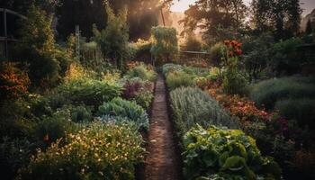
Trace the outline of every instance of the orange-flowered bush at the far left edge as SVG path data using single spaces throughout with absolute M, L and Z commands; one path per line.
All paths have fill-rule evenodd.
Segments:
M 4 61 L 0 64 L 0 98 L 18 98 L 28 93 L 29 76 L 16 63 Z

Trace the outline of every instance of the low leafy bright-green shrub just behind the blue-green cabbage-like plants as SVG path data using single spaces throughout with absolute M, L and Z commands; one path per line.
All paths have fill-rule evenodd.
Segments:
M 121 90 L 121 85 L 109 85 L 107 82 L 94 79 L 71 81 L 58 87 L 58 93 L 64 94 L 74 103 L 85 103 L 94 107 L 119 96 Z

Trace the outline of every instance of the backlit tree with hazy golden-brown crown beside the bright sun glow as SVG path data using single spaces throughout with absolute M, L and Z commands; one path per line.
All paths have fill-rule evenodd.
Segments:
M 184 32 L 199 27 L 211 36 L 220 35 L 219 29 L 242 28 L 247 6 L 242 0 L 198 0 L 184 12 Z

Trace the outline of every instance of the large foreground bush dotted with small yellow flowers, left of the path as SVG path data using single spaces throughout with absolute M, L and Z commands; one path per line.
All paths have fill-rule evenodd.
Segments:
M 135 179 L 135 165 L 144 159 L 143 140 L 129 125 L 95 122 L 38 150 L 24 168 L 22 179 Z

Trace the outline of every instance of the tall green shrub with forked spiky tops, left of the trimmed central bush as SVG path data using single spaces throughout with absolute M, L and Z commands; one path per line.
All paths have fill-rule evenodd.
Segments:
M 116 67 L 122 67 L 123 60 L 129 58 L 127 9 L 123 8 L 116 16 L 109 4 L 105 4 L 107 14 L 107 26 L 98 31 L 93 27 L 94 40 L 101 47 L 104 58 L 110 58 Z

